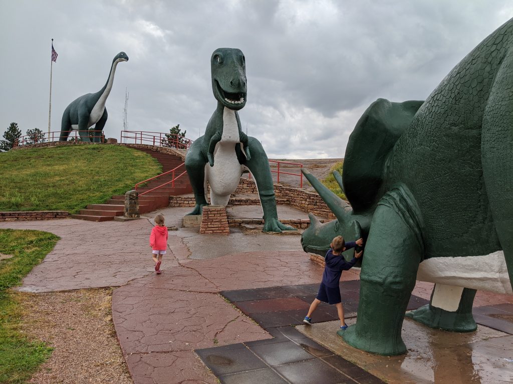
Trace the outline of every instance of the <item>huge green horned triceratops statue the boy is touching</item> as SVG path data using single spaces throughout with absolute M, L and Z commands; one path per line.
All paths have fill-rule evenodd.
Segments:
M 305 250 L 336 234 L 367 238 L 349 345 L 396 355 L 411 291 L 437 283 L 409 316 L 472 331 L 476 289 L 513 282 L 513 19 L 484 39 L 424 101 L 379 99 L 358 121 L 339 184 L 352 209 L 313 178 L 337 220 L 312 222 Z M 311 219 L 314 218 L 311 216 Z

